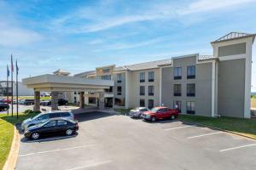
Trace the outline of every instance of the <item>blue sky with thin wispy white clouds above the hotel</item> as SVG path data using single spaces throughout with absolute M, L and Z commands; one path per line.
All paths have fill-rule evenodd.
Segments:
M 20 79 L 183 54 L 212 54 L 230 31 L 256 33 L 255 0 L 0 1 L 0 79 L 14 54 Z M 253 91 L 256 91 L 256 45 Z

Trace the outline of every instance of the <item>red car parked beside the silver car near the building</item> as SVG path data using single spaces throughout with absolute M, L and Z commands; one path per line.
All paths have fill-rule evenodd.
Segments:
M 143 113 L 143 119 L 148 121 L 156 121 L 158 119 L 171 118 L 175 119 L 178 115 L 177 110 L 172 110 L 167 107 L 154 107 L 151 111 L 145 111 Z

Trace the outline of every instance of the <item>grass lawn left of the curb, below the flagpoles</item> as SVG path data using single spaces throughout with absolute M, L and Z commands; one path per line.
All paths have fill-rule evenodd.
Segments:
M 14 125 L 17 122 L 22 122 L 28 117 L 35 116 L 32 114 L 20 114 L 17 120 L 16 116 L 7 116 L 6 114 L 0 114 L 0 169 L 9 156 L 9 150 L 14 138 Z

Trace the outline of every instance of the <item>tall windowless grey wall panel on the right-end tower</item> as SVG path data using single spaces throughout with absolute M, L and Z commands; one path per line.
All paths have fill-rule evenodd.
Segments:
M 244 116 L 245 59 L 218 63 L 218 114 Z

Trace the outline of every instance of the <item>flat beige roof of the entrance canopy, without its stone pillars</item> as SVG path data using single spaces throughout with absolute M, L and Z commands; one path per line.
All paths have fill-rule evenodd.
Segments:
M 67 91 L 103 91 L 113 86 L 111 80 L 87 79 L 81 77 L 65 77 L 58 75 L 41 75 L 22 80 L 27 88 L 34 91 L 67 92 Z

